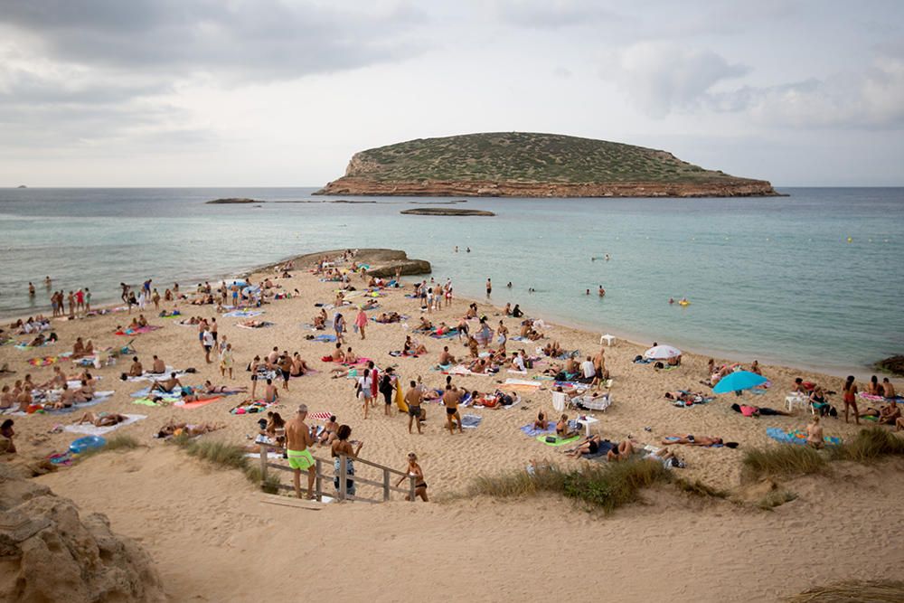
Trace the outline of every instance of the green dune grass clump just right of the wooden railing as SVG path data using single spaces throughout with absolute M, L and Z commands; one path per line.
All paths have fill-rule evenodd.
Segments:
M 477 477 L 468 494 L 505 498 L 551 492 L 610 513 L 623 504 L 636 501 L 642 488 L 671 480 L 671 474 L 662 464 L 645 460 L 592 464 L 570 472 L 564 472 L 558 466 L 544 466 L 537 467 L 533 475 L 513 471 Z

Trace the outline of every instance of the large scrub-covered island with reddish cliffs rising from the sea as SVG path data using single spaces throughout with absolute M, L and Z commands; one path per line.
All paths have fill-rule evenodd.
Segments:
M 706 170 L 666 151 L 557 134 L 418 138 L 353 155 L 315 194 L 481 197 L 748 197 L 765 180 Z

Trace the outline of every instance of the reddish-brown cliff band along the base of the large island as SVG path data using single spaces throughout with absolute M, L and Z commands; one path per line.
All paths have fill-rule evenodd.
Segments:
M 765 180 L 741 178 L 711 183 L 523 183 L 450 180 L 383 182 L 362 176 L 343 176 L 326 184 L 315 194 L 424 197 L 761 197 L 777 196 L 778 193 Z

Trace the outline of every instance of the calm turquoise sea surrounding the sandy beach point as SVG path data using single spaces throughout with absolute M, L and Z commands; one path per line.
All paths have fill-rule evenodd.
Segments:
M 118 298 L 120 281 L 189 284 L 315 250 L 388 247 L 428 259 L 459 294 L 482 297 L 491 277 L 500 306 L 520 303 L 534 315 L 640 341 L 839 372 L 904 351 L 901 188 L 458 206 L 496 218 L 400 216 L 411 202 L 428 201 L 408 197 L 203 203 L 323 201 L 313 190 L 2 190 L 0 316 L 46 311 L 45 275 L 54 287 L 90 287 L 99 304 Z M 29 280 L 38 287 L 34 303 Z M 666 303 L 685 296 L 691 306 Z

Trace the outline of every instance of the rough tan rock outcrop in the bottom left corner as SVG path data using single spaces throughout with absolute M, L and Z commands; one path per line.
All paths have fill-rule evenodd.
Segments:
M 0 600 L 165 601 L 150 556 L 107 517 L 0 465 Z

